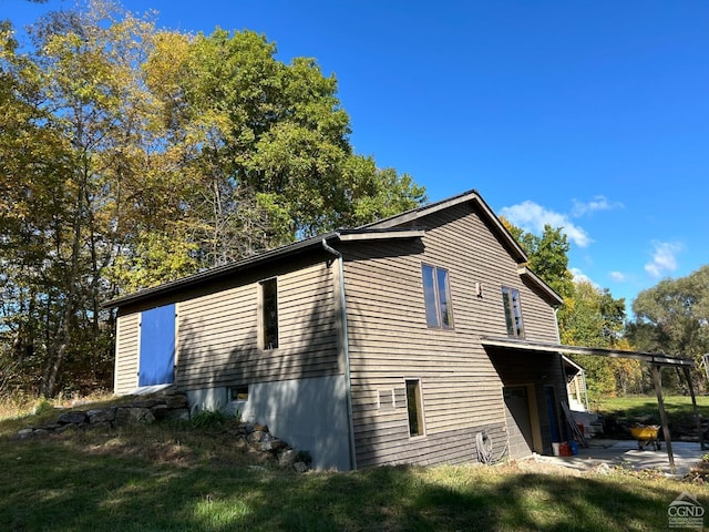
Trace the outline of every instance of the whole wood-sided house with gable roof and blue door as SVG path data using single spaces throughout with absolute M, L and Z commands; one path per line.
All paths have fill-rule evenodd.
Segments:
M 471 191 L 120 297 L 115 392 L 169 383 L 319 468 L 551 453 L 564 365 L 530 346 L 562 299 L 526 260 Z

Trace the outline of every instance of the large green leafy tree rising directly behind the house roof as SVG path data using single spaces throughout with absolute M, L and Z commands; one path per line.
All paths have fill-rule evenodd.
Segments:
M 193 184 L 186 223 L 201 266 L 425 200 L 408 175 L 352 153 L 337 81 L 315 60 L 285 64 L 250 31 L 160 41 L 148 82 L 165 105 L 167 151 Z

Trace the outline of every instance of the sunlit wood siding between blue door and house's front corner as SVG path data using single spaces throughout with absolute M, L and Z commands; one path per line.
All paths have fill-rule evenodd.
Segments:
M 264 279 L 268 278 L 264 275 Z M 258 282 L 181 303 L 181 389 L 337 375 L 332 270 L 318 263 L 278 275 L 278 338 L 258 347 Z

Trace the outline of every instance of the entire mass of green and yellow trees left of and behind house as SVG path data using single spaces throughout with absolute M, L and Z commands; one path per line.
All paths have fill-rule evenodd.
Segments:
M 110 385 L 102 301 L 425 201 L 353 152 L 335 76 L 265 35 L 107 0 L 30 35 L 0 24 L 0 387 Z

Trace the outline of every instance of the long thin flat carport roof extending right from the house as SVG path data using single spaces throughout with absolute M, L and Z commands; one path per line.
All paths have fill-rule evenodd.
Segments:
M 691 368 L 695 362 L 690 358 L 672 357 L 670 355 L 643 351 L 626 351 L 623 349 L 602 349 L 597 347 L 564 346 L 545 341 L 521 340 L 515 338 L 495 338 L 483 336 L 483 346 L 504 347 L 531 351 L 563 352 L 565 355 L 595 355 L 598 357 L 633 358 L 654 366 L 675 366 Z

